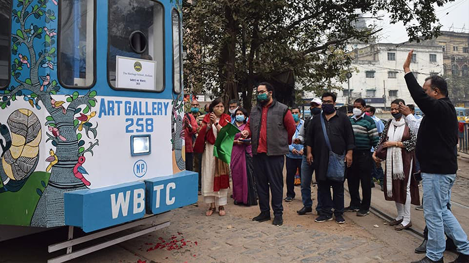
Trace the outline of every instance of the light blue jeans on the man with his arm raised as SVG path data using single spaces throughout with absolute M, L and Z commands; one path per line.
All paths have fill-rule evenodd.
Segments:
M 438 261 L 445 251 L 445 232 L 454 240 L 459 253 L 469 255 L 468 236 L 447 204 L 451 199 L 456 174 L 422 173 L 424 216 L 429 229 L 427 257 Z

